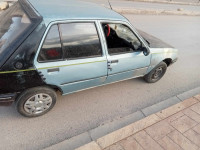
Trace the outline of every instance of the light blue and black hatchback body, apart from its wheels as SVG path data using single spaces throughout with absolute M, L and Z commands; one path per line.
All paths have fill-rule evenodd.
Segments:
M 2 15 L 1 105 L 16 100 L 25 109 L 18 101 L 42 87 L 65 95 L 142 76 L 156 82 L 177 60 L 177 49 L 96 4 L 19 0 Z M 155 72 L 159 78 L 150 80 Z

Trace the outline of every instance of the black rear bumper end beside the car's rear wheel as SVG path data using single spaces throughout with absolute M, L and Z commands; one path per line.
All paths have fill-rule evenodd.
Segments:
M 1 94 L 0 95 L 0 106 L 9 106 L 11 105 L 16 98 L 16 93 L 10 93 L 10 94 Z

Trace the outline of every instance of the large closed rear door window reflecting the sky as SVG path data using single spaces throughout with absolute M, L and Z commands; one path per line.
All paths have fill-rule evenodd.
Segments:
M 102 56 L 102 49 L 94 23 L 60 24 L 61 41 L 66 59 Z

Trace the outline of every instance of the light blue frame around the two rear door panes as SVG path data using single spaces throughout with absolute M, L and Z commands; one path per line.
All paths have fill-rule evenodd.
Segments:
M 61 38 L 61 31 L 60 31 L 60 28 L 59 28 L 59 24 L 69 24 L 69 23 L 93 23 L 95 28 L 96 28 L 96 31 L 97 31 L 97 36 L 99 38 L 99 44 L 100 44 L 100 48 L 101 48 L 101 56 L 91 56 L 91 57 L 79 57 L 79 58 L 71 58 L 71 59 L 67 59 L 67 58 L 64 58 L 64 51 L 63 51 L 63 43 L 62 43 L 62 38 Z M 57 25 L 58 26 L 58 32 L 59 32 L 59 38 L 60 38 L 60 44 L 61 44 L 61 49 L 62 49 L 62 52 L 63 52 L 63 56 L 62 56 L 62 59 L 57 59 L 57 60 L 48 60 L 48 61 L 39 61 L 39 54 L 40 54 L 40 51 L 42 50 L 42 47 L 44 45 L 44 42 L 46 40 L 46 37 L 51 29 L 51 27 L 53 25 Z M 38 63 L 50 63 L 50 62 L 57 62 L 57 61 L 70 61 L 70 60 L 82 60 L 82 59 L 89 59 L 89 58 L 98 58 L 98 57 L 104 57 L 106 54 L 105 54 L 105 50 L 104 50 L 104 46 L 103 46 L 103 39 L 101 38 L 101 31 L 100 31 L 100 28 L 99 28 L 99 25 L 98 25 L 98 22 L 97 20 L 68 20 L 68 21 L 55 21 L 55 22 L 52 22 L 50 23 L 48 26 L 47 26 L 47 29 L 43 35 L 43 38 L 40 42 L 40 45 L 39 45 L 39 48 L 37 50 L 37 53 L 36 53 L 36 60 Z

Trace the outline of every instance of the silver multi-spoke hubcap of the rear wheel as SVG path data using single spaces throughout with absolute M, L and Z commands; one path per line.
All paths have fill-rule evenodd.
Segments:
M 24 110 L 29 114 L 41 114 L 47 111 L 52 104 L 50 95 L 40 93 L 30 97 L 24 104 Z

